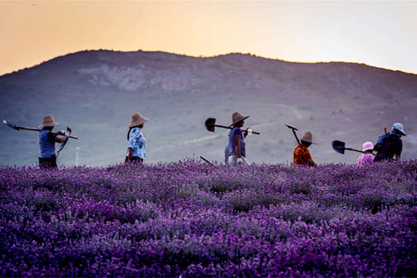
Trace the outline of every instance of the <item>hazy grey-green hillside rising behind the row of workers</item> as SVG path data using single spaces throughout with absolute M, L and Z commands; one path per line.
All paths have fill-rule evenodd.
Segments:
M 313 132 L 318 163 L 354 163 L 357 154 L 333 151 L 332 140 L 360 148 L 375 142 L 393 122 L 407 132 L 403 158 L 417 157 L 417 76 L 354 63 L 289 63 L 248 54 L 194 58 L 163 52 L 81 51 L 0 76 L 0 117 L 38 126 L 42 115 L 72 127 L 58 163 L 109 165 L 124 160 L 127 124 L 140 111 L 148 162 L 206 156 L 223 161 L 227 131 L 209 133 L 207 117 L 230 124 L 231 114 L 250 115 L 246 126 L 261 132 L 247 139 L 248 160 L 291 161 L 295 139 Z M 0 126 L 0 163 L 36 162 L 38 136 Z

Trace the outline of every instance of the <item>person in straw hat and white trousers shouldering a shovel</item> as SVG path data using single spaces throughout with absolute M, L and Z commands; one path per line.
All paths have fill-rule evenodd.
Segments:
M 233 127 L 229 132 L 229 165 L 247 165 L 246 161 L 246 149 L 245 149 L 245 138 L 247 136 L 247 131 L 242 131 L 240 129 L 245 120 L 249 116 L 243 116 L 242 114 L 235 112 L 231 115 L 231 125 Z

